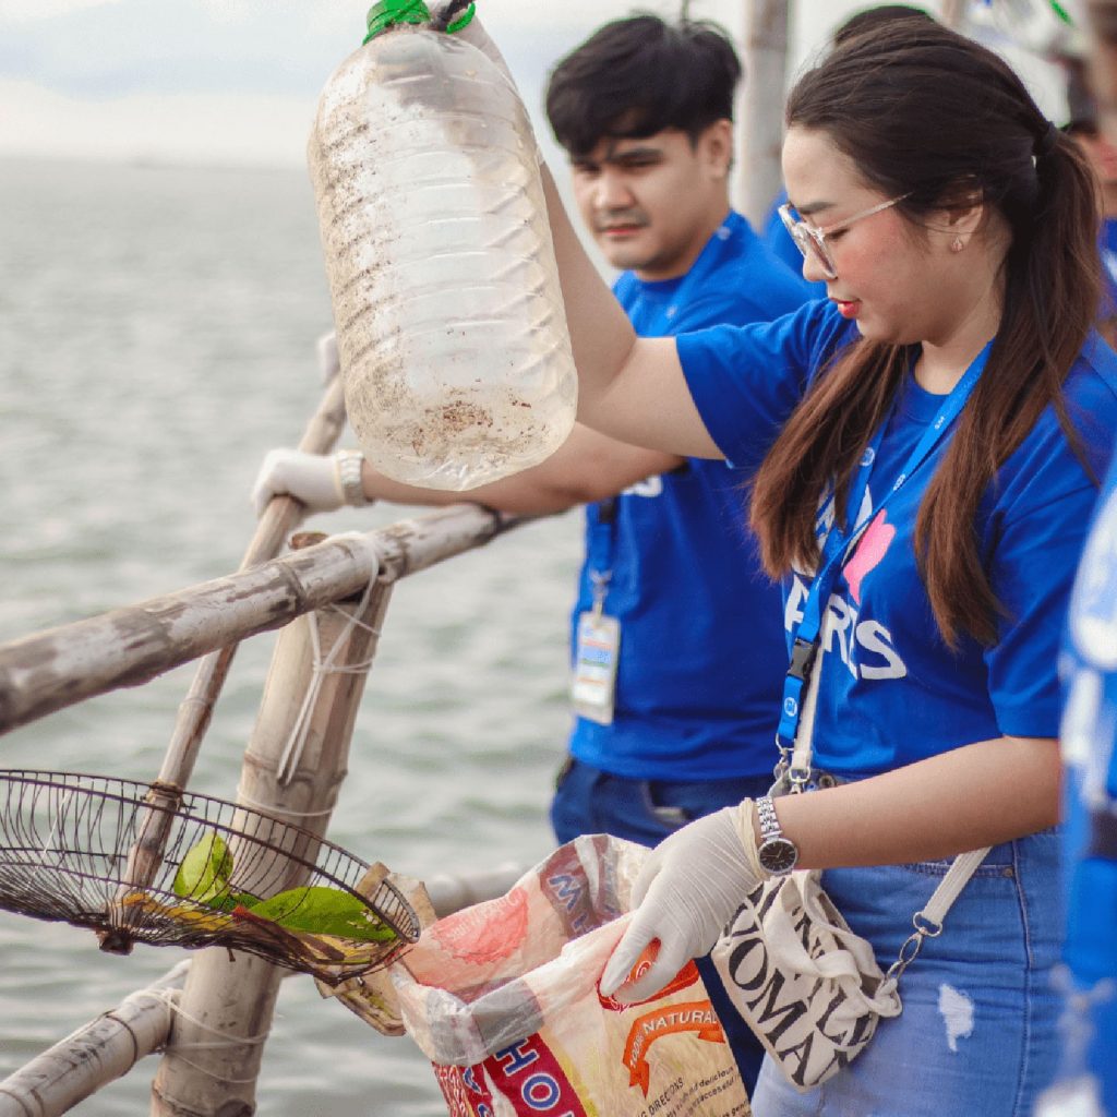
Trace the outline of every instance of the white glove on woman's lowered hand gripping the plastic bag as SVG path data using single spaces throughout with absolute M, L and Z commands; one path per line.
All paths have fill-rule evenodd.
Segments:
M 655 996 L 690 961 L 708 954 L 744 898 L 767 879 L 756 860 L 751 799 L 676 830 L 645 861 L 632 888 L 636 914 L 601 975 L 602 996 L 631 1004 Z M 651 967 L 621 989 L 645 948 Z M 619 992 L 618 992 L 619 991 Z

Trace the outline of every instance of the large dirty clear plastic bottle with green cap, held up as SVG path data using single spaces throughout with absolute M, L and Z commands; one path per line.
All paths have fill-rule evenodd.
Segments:
M 350 424 L 389 477 L 461 490 L 556 450 L 576 375 L 526 111 L 428 19 L 370 11 L 308 155 Z

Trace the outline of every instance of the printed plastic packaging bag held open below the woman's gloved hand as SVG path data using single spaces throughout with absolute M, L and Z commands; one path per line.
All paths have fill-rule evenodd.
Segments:
M 451 1117 L 748 1117 L 693 962 L 641 1004 L 598 992 L 647 852 L 579 838 L 506 896 L 433 924 L 392 966 Z

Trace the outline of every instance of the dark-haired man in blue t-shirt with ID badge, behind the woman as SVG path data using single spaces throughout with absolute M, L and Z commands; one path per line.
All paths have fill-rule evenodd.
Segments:
M 586 228 L 627 269 L 614 289 L 638 333 L 768 321 L 808 298 L 729 207 L 739 76 L 720 31 L 655 16 L 604 26 L 552 75 L 548 118 Z M 273 451 L 257 507 L 289 493 L 324 510 L 346 489 L 351 503 L 461 499 L 367 464 L 343 477 L 354 460 Z M 760 571 L 741 485 L 724 462 L 575 427 L 547 461 L 470 491 L 512 513 L 588 505 L 575 719 L 552 806 L 560 841 L 608 832 L 653 846 L 771 784 L 787 657 L 779 590 Z M 761 1054 L 752 1042 L 747 1054 L 734 1042 L 750 1088 Z

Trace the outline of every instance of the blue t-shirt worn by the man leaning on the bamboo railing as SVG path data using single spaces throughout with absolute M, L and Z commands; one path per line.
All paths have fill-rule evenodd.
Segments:
M 626 273 L 614 289 L 637 333 L 661 337 L 779 317 L 805 286 L 731 213 L 687 276 Z M 613 722 L 575 718 L 577 760 L 638 780 L 772 771 L 786 669 L 780 591 L 760 570 L 741 485 L 724 461 L 694 458 L 586 507 L 575 631 L 593 604 L 592 571 L 611 571 L 604 611 L 621 643 Z

